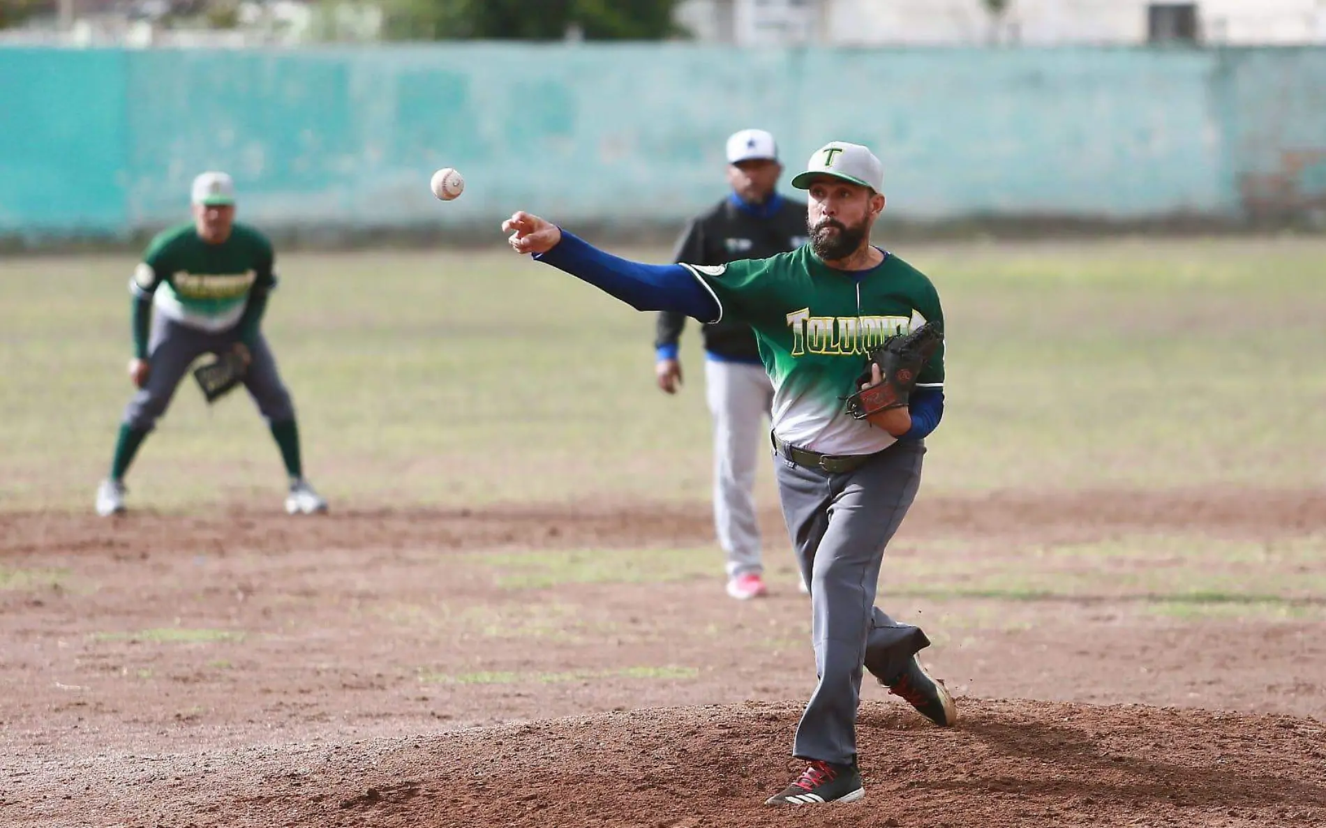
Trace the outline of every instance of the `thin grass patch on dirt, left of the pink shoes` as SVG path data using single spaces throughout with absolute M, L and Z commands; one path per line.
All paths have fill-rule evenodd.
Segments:
M 721 555 L 713 548 L 691 550 L 540 550 L 484 552 L 469 560 L 493 572 L 508 590 L 545 590 L 566 584 L 663 583 L 713 576 Z

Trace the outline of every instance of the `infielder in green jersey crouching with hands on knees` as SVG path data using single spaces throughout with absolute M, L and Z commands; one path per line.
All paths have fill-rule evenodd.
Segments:
M 224 172 L 194 179 L 191 201 L 192 224 L 156 236 L 130 282 L 134 358 L 129 376 L 138 392 L 125 408 L 110 477 L 97 489 L 97 513 L 125 510 L 129 464 L 166 413 L 190 364 L 204 354 L 237 354 L 247 363 L 244 386 L 267 419 L 289 474 L 285 510 L 326 511 L 326 501 L 304 480 L 294 407 L 260 327 L 268 293 L 276 287 L 272 242 L 235 221 L 235 184 Z

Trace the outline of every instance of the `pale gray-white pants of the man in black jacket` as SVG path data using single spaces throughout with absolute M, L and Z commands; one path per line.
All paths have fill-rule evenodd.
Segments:
M 761 364 L 705 359 L 704 396 L 713 415 L 713 529 L 728 578 L 760 574 L 753 489 L 761 445 L 768 445 L 773 383 Z

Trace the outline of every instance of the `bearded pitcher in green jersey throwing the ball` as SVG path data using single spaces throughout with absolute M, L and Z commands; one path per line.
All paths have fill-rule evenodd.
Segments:
M 862 388 L 866 354 L 886 336 L 943 325 L 935 286 L 869 242 L 884 209 L 879 159 L 829 143 L 792 180 L 809 199 L 810 244 L 727 265 L 643 265 L 610 256 L 554 224 L 516 213 L 503 224 L 518 253 L 566 270 L 636 310 L 752 326 L 773 380 L 778 494 L 802 578 L 810 584 L 818 686 L 797 726 L 805 772 L 769 804 L 853 802 L 857 707 L 863 669 L 940 726 L 956 718 L 944 685 L 916 653 L 930 640 L 874 607 L 884 547 L 920 486 L 924 437 L 943 413 L 944 351 L 915 376 L 907 405 L 857 419 L 845 399 Z M 880 386 L 879 367 L 865 387 Z

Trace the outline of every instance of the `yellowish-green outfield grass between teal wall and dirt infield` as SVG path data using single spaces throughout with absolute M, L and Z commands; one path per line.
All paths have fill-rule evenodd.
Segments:
M 948 317 L 928 492 L 1326 484 L 1326 240 L 898 253 Z M 133 266 L 5 261 L 0 507 L 90 509 L 130 393 Z M 652 314 L 500 238 L 483 254 L 292 254 L 280 270 L 265 330 L 333 506 L 708 497 L 693 323 L 670 399 L 654 387 Z M 281 480 L 243 392 L 208 409 L 182 384 L 130 505 L 278 505 Z M 769 502 L 766 473 L 760 490 Z

